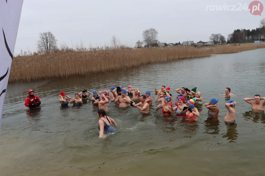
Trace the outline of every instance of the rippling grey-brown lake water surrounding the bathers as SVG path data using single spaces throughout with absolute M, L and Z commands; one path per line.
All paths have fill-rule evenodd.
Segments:
M 151 91 L 153 106 L 144 116 L 137 108 L 108 103 L 118 132 L 100 140 L 98 108 L 87 103 L 61 108 L 59 92 L 70 97 L 83 89 L 107 90 L 123 85 Z M 205 102 L 219 100 L 218 119 L 197 106 L 199 122 L 154 111 L 154 88 L 197 87 Z M 229 99 L 237 95 L 235 125 L 223 122 Z M 265 49 L 147 65 L 87 77 L 8 84 L 0 136 L 2 175 L 264 175 L 264 113 L 255 114 L 244 97 L 265 97 Z M 41 99 L 41 108 L 24 106 L 27 91 Z M 174 103 L 173 103 L 174 104 Z

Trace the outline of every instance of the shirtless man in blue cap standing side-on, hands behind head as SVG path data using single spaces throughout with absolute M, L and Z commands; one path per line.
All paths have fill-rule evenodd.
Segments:
M 226 126 L 232 126 L 235 124 L 235 116 L 236 116 L 236 102 L 230 99 L 226 104 L 225 107 L 227 108 L 226 115 L 224 116 L 224 123 Z

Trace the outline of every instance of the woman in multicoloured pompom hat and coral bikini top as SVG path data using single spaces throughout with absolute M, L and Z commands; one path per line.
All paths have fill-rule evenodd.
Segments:
M 194 107 L 196 99 L 192 98 L 187 102 L 188 107 L 183 107 L 183 109 L 180 111 L 180 113 L 186 112 L 186 120 L 189 121 L 197 121 L 200 116 L 200 113 L 197 108 Z

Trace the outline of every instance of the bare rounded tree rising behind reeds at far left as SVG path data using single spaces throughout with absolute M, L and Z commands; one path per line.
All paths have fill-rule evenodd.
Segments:
M 57 50 L 57 41 L 50 31 L 39 33 L 39 40 L 37 42 L 38 51 L 49 54 L 51 51 Z

